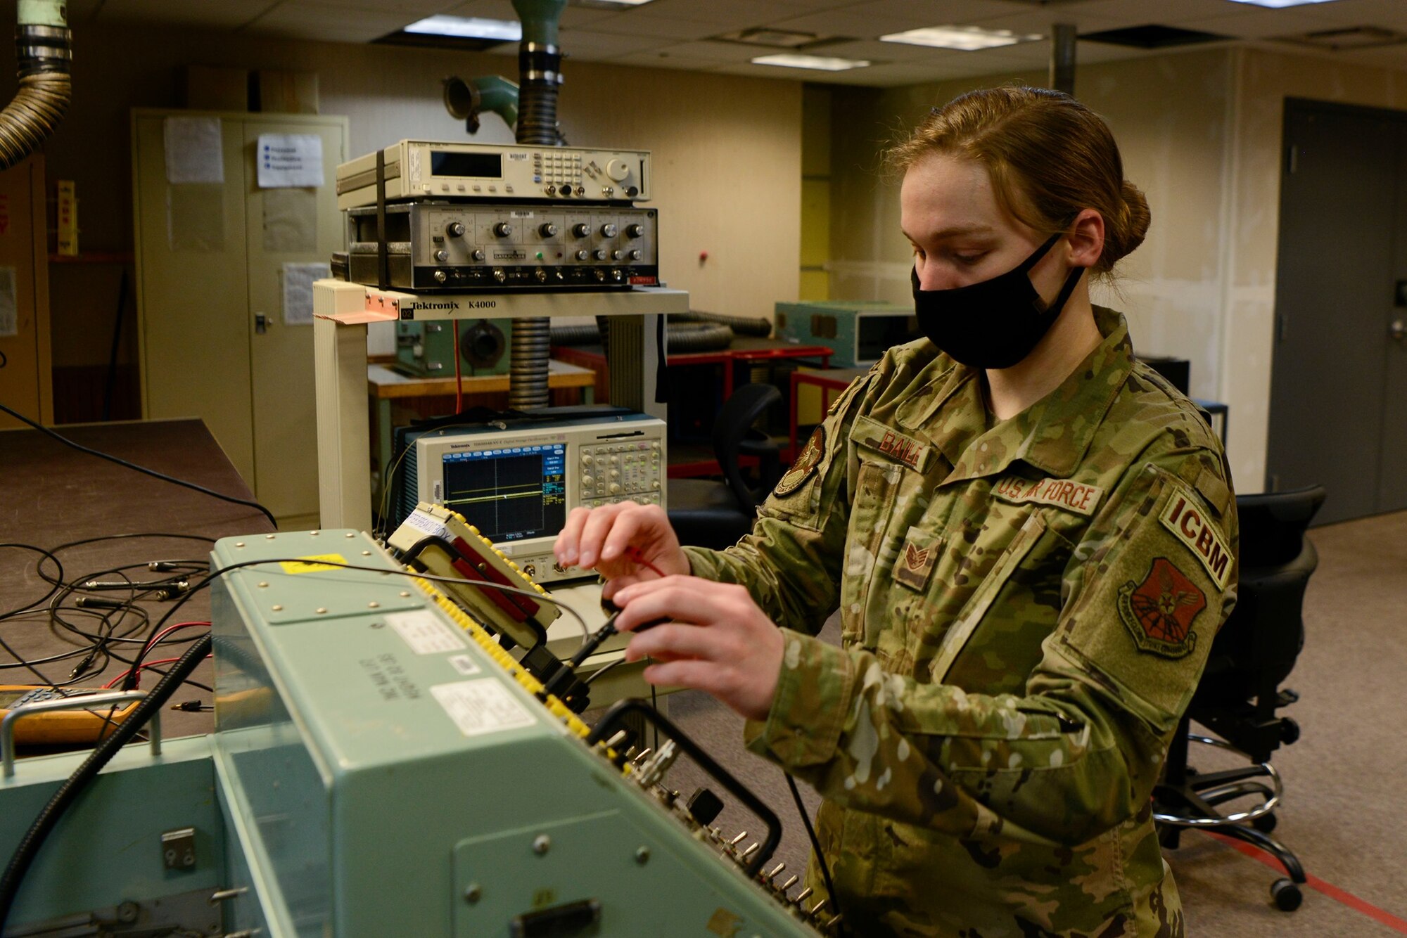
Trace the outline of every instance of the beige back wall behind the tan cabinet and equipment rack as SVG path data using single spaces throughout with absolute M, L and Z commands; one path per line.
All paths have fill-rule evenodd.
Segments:
M 471 55 L 79 25 L 73 104 L 46 155 L 51 179 L 77 181 L 84 250 L 131 250 L 128 111 L 174 105 L 176 70 L 187 63 L 317 72 L 322 113 L 350 118 L 353 155 L 408 136 L 469 139 L 440 104 L 440 79 L 516 79 L 518 69 L 516 49 Z M 688 290 L 698 309 L 740 315 L 770 316 L 777 300 L 796 298 L 799 82 L 570 59 L 564 72 L 560 115 L 573 143 L 654 152 L 653 207 L 670 285 Z M 512 135 L 487 115 L 476 139 Z M 65 267 L 55 277 L 55 364 L 106 363 L 118 273 Z

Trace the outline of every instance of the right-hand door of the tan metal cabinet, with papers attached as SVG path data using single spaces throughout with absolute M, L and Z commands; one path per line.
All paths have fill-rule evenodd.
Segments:
M 319 187 L 260 188 L 260 136 L 321 139 Z M 286 308 L 286 280 L 342 250 L 336 169 L 346 160 L 345 118 L 250 115 L 243 124 L 245 253 L 249 267 L 249 385 L 259 501 L 286 527 L 318 526 L 318 433 L 311 305 Z M 290 267 L 290 264 L 293 267 Z M 324 274 L 326 276 L 326 274 Z M 295 298 L 297 291 L 288 294 Z M 311 304 L 311 294 L 307 294 Z M 305 312 L 308 315 L 300 315 Z

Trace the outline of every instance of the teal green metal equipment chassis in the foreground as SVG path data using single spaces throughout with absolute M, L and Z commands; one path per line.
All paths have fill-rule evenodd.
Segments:
M 212 586 L 215 733 L 118 751 L 6 938 L 825 931 L 761 872 L 775 816 L 643 703 L 588 730 L 366 534 L 225 539 L 211 570 L 250 561 Z M 628 752 L 632 714 L 666 743 Z M 767 837 L 733 844 L 671 792 L 681 751 Z M 0 780 L 0 856 L 84 755 Z

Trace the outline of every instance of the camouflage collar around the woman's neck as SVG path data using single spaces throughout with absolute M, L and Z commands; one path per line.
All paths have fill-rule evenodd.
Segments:
M 1103 340 L 1069 377 L 991 429 L 985 425 L 988 411 L 978 371 L 961 364 L 953 368 L 938 395 L 941 412 L 934 415 L 947 425 L 934 443 L 953 464 L 948 481 L 996 475 L 1017 460 L 1061 478 L 1075 471 L 1133 368 L 1123 315 L 1095 307 L 1095 325 Z M 943 420 L 948 413 L 953 416 Z

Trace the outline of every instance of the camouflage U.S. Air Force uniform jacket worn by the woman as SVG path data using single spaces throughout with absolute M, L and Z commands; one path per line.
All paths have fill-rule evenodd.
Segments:
M 749 536 L 688 548 L 784 627 L 746 734 L 825 796 L 853 932 L 1183 932 L 1150 793 L 1234 603 L 1235 501 L 1200 413 L 1096 322 L 1002 422 L 979 373 L 891 349 Z M 813 637 L 837 608 L 843 648 Z

